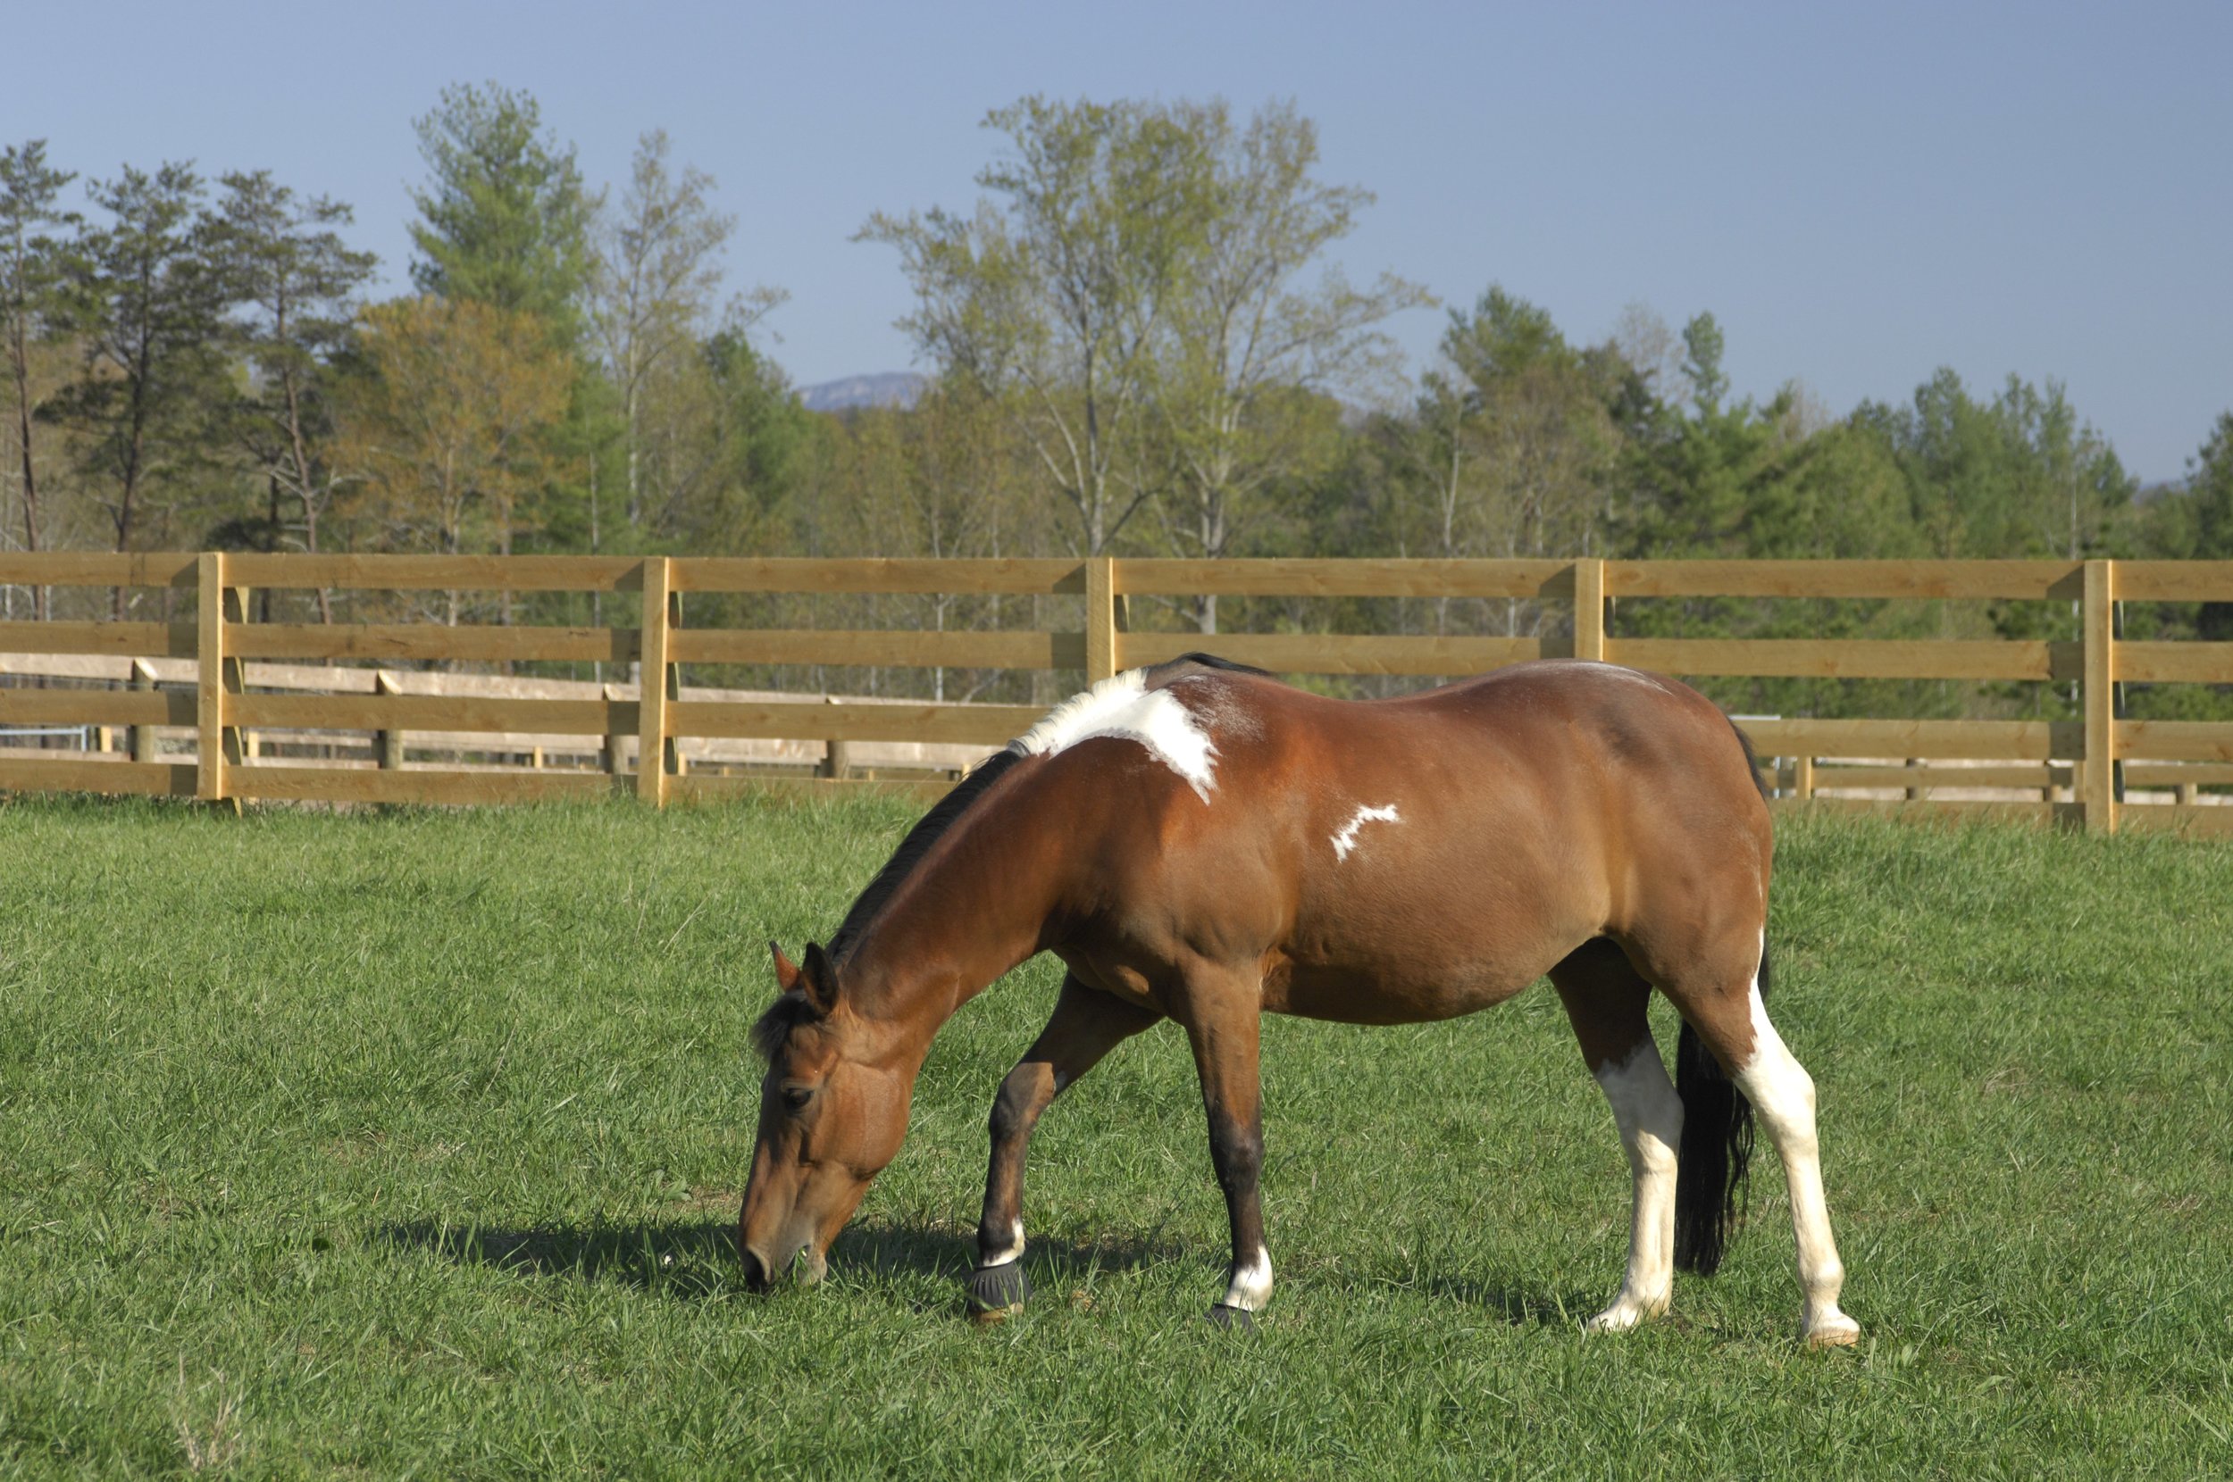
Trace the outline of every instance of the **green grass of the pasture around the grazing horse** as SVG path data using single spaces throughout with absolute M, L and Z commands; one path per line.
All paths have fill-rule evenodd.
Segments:
M 1798 819 L 1775 1013 L 1865 1324 L 1793 1344 L 1782 1178 L 1583 1337 L 1628 1178 L 1547 993 L 1266 1027 L 1280 1290 L 1224 1268 L 1181 1036 L 1041 1127 L 960 1319 L 1029 964 L 938 1040 L 813 1292 L 730 1230 L 766 940 L 878 801 L 246 819 L 0 806 L 0 1473 L 2224 1475 L 2233 848 Z

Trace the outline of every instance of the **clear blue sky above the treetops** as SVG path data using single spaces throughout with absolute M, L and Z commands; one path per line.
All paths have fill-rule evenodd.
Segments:
M 1710 308 L 1740 393 L 1831 411 L 2059 377 L 2175 478 L 2233 408 L 2233 2 L 2195 4 L 45 4 L 0 141 L 89 174 L 270 167 L 357 208 L 404 281 L 411 118 L 540 98 L 592 181 L 641 129 L 719 176 L 737 283 L 790 292 L 802 382 L 909 364 L 871 210 L 965 205 L 989 107 L 1295 98 L 1378 205 L 1344 246 L 1447 304 L 1492 281 L 1579 339 Z M 1396 328 L 1427 357 L 1440 312 Z

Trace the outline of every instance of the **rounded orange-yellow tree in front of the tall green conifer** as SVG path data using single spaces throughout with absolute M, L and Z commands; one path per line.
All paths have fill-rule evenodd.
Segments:
M 471 299 L 397 299 L 360 324 L 335 453 L 362 480 L 353 511 L 389 547 L 456 556 L 485 536 L 509 556 L 523 507 L 552 478 L 572 362 L 536 319 Z M 456 591 L 444 620 L 458 620 Z

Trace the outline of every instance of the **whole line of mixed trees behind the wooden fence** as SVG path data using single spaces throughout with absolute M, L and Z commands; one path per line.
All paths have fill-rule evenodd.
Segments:
M 913 290 L 902 328 L 922 395 L 837 415 L 793 395 L 761 335 L 782 290 L 730 288 L 735 221 L 659 129 L 625 181 L 594 190 L 534 96 L 447 89 L 415 121 L 411 292 L 382 301 L 351 208 L 270 172 L 125 165 L 83 181 L 80 210 L 45 141 L 7 147 L 0 549 L 2233 558 L 2233 411 L 2184 480 L 2144 491 L 2052 379 L 1970 388 L 1938 371 L 1903 404 L 1836 415 L 1798 382 L 1733 395 L 1710 312 L 1677 330 L 1630 308 L 1590 344 L 1498 283 L 1445 308 L 1411 377 L 1387 324 L 1434 299 L 1329 266 L 1371 194 L 1322 179 L 1293 105 L 1239 118 L 1217 100 L 1025 98 L 985 127 L 976 201 L 875 214 L 857 234 Z M 147 600 L 163 598 L 107 598 L 116 616 Z M 351 616 L 330 594 L 259 600 Z M 47 603 L 0 589 L 4 616 Z M 1045 618 L 1014 598 L 728 607 L 828 625 Z M 520 614 L 435 594 L 422 616 Z M 1550 634 L 1565 618 L 1521 600 L 1197 596 L 1130 620 Z M 2057 636 L 2072 620 L 2041 605 L 1623 603 L 1614 632 Z M 2224 607 L 2128 623 L 2233 636 Z M 1853 681 L 1717 696 L 1822 714 L 2068 699 Z

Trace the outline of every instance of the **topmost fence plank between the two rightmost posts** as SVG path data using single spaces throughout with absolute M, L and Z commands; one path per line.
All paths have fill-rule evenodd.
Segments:
M 2072 560 L 1608 560 L 1608 596 L 2057 598 Z

